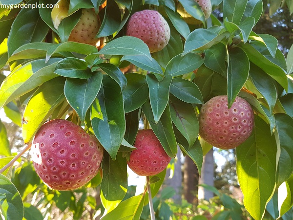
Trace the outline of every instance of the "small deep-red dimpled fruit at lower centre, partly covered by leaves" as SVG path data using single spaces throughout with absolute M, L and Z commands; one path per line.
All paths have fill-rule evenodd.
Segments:
M 131 152 L 127 164 L 137 175 L 157 175 L 167 167 L 171 160 L 151 129 L 139 130 L 134 146 L 137 150 Z

